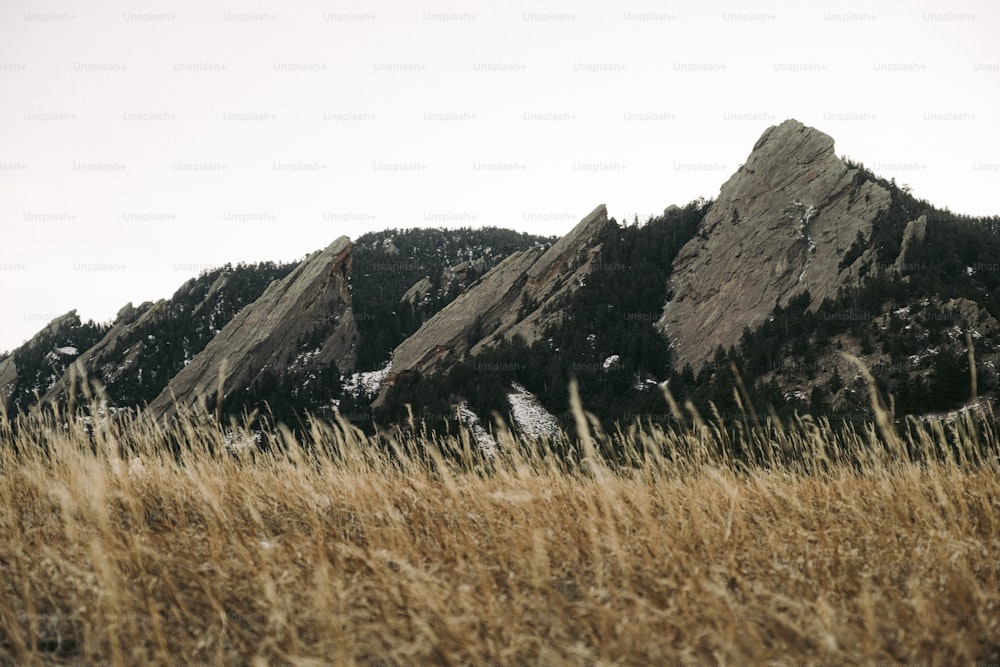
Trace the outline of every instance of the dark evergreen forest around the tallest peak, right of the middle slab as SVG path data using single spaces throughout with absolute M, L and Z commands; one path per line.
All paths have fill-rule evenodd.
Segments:
M 832 365 L 829 353 L 843 349 L 842 341 L 861 355 L 888 359 L 871 371 L 882 395 L 891 397 L 897 416 L 962 406 L 971 398 L 970 368 L 964 337 L 953 340 L 954 327 L 965 331 L 974 323 L 944 304 L 967 299 L 1000 319 L 997 219 L 957 216 L 916 199 L 863 166 L 858 173 L 859 184 L 875 179 L 891 192 L 890 206 L 877 219 L 871 237 L 851 250 L 856 259 L 871 248 L 877 266 L 860 285 L 841 290 L 818 308 L 810 310 L 810 296 L 800 295 L 777 308 L 770 321 L 747 329 L 738 346 L 719 349 L 698 368 L 672 367 L 668 341 L 654 330 L 653 322 L 670 296 L 667 279 L 673 258 L 697 233 L 710 205 L 692 202 L 644 225 L 609 228 L 600 241 L 598 266 L 626 270 L 592 273 L 564 304 L 562 324 L 546 332 L 543 340 L 530 346 L 524 340 L 509 341 L 440 376 L 400 377 L 376 421 L 403 420 L 409 404 L 417 415 L 428 417 L 428 423 L 453 428 L 444 421 L 461 400 L 480 415 L 496 412 L 506 419 L 506 396 L 517 382 L 570 426 L 571 378 L 578 382 L 587 409 L 608 427 L 635 418 L 671 422 L 657 386 L 664 380 L 681 405 L 690 401 L 705 416 L 737 416 L 751 408 L 783 418 L 795 413 L 846 421 L 870 418 L 860 376 L 845 376 L 836 369 L 831 374 L 827 368 Z M 906 224 L 921 215 L 927 218 L 924 239 L 910 245 L 900 273 L 890 271 Z M 853 261 L 851 253 L 844 266 Z M 909 325 L 894 312 L 900 308 L 909 309 Z M 878 323 L 880 317 L 887 320 L 884 326 Z M 977 345 L 996 350 L 1000 340 L 995 333 L 984 334 Z M 732 368 L 748 388 L 749 406 L 737 398 Z M 994 390 L 997 374 L 990 362 L 977 360 L 976 370 L 979 393 Z M 793 392 L 792 385 L 807 390 Z M 841 391 L 845 387 L 847 402 L 835 401 L 847 395 Z

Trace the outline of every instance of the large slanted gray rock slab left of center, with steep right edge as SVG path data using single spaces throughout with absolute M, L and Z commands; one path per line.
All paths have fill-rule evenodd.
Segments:
M 348 278 L 351 241 L 343 236 L 313 254 L 226 324 L 149 404 L 164 419 L 177 406 L 223 397 L 252 386 L 268 369 L 336 364 L 354 369 L 358 330 Z

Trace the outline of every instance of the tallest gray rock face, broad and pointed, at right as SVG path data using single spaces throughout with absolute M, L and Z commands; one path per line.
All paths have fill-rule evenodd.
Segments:
M 871 237 L 890 193 L 856 172 L 832 138 L 796 120 L 764 132 L 674 261 L 673 298 L 657 327 L 678 368 L 736 345 L 744 327 L 806 290 L 818 307 L 857 281 L 870 256 L 839 265 L 858 232 Z

